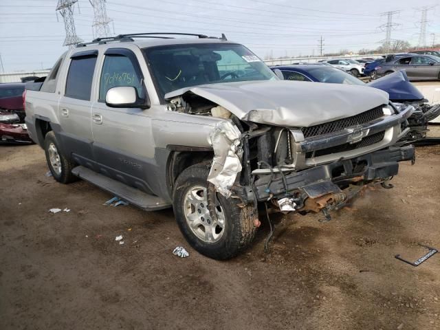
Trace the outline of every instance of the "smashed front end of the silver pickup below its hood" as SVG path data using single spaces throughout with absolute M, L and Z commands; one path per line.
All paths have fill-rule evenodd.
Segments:
M 187 92 L 173 110 L 223 118 L 210 134 L 214 159 L 208 181 L 237 204 L 259 202 L 282 212 L 337 210 L 364 186 L 397 175 L 399 162 L 414 160 L 412 146 L 395 146 L 406 135 L 414 108 L 382 104 L 350 117 L 303 127 L 269 125 L 274 113 L 245 115 Z M 260 122 L 250 121 L 260 118 Z

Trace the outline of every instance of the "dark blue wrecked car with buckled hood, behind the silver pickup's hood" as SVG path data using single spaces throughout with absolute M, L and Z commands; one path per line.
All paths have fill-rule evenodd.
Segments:
M 413 111 L 410 118 L 408 118 L 410 132 L 402 139 L 402 142 L 413 142 L 426 137 L 428 122 L 440 115 L 440 104 L 430 105 L 426 103 L 427 101 L 419 89 L 410 83 L 404 71 L 389 74 L 388 76 L 366 84 L 362 80 L 344 72 L 342 69 L 329 67 L 320 63 L 277 65 L 271 67 L 271 69 L 275 72 L 279 70 L 277 75 L 280 76 L 281 72 L 284 80 L 360 85 L 382 89 L 382 91 L 388 93 L 391 102 L 395 104 L 397 109 L 404 108 L 408 104 L 411 104 L 415 107 L 415 111 Z

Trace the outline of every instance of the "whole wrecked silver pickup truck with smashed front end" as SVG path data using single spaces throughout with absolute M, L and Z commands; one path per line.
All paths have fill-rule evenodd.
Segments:
M 254 238 L 259 203 L 329 217 L 414 158 L 394 145 L 411 106 L 368 87 L 283 81 L 243 45 L 193 36 L 96 39 L 28 91 L 28 130 L 57 181 L 173 207 L 193 248 L 228 259 Z

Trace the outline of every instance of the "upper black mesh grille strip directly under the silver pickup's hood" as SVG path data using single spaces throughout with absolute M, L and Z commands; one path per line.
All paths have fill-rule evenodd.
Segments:
M 306 139 L 307 137 L 316 137 L 319 135 L 325 135 L 329 133 L 342 131 L 347 127 L 365 124 L 366 122 L 371 122 L 372 120 L 381 118 L 384 115 L 384 111 L 382 111 L 383 107 L 385 107 L 385 104 L 382 104 L 379 107 L 375 107 L 369 111 L 365 111 L 359 113 L 358 115 L 353 115 L 348 118 L 342 118 L 339 120 L 335 120 L 333 122 L 325 122 L 324 124 L 303 127 L 301 131 L 303 131 L 304 137 Z

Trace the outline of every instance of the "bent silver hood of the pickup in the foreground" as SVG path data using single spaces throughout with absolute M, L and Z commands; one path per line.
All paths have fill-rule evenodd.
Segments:
M 188 92 L 221 105 L 241 120 L 290 127 L 322 124 L 388 104 L 388 94 L 375 88 L 285 80 L 199 85 L 172 91 L 165 98 Z

